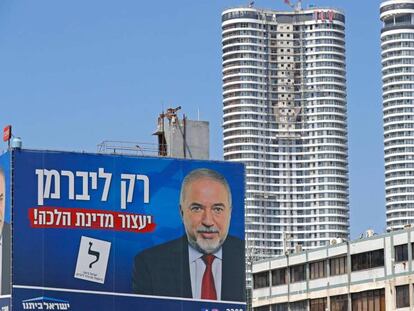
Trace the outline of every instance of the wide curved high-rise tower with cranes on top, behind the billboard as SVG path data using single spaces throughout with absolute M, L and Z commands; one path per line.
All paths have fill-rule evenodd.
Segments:
M 222 14 L 224 158 L 246 165 L 252 260 L 349 234 L 345 16 Z

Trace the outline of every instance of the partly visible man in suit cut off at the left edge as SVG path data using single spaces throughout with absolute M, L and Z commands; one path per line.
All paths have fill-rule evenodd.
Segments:
M 0 244 L 1 295 L 10 295 L 10 224 L 4 221 L 6 211 L 6 178 L 0 168 Z

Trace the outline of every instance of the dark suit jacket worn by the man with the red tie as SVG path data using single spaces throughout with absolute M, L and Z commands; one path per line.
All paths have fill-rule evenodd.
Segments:
M 227 236 L 222 252 L 221 300 L 246 301 L 244 242 Z M 142 295 L 192 298 L 187 236 L 139 253 L 132 290 Z

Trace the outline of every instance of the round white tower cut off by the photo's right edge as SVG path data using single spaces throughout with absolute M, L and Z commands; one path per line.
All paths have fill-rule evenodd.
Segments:
M 414 223 L 414 0 L 381 3 L 387 226 Z

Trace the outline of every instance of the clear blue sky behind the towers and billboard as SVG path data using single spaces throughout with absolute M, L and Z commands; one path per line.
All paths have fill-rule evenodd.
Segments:
M 155 142 L 162 107 L 181 105 L 210 121 L 222 159 L 220 18 L 248 2 L 1 0 L 1 128 L 12 124 L 25 148 L 95 152 L 105 139 Z M 346 14 L 351 237 L 383 232 L 380 1 L 309 4 Z

